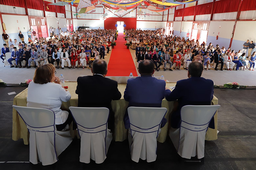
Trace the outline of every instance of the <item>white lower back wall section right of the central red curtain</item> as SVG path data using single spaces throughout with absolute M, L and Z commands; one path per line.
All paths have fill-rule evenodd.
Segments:
M 155 22 L 155 21 L 137 21 L 137 29 L 150 29 L 155 30 L 158 28 L 165 28 L 166 27 L 166 21 L 163 22 Z

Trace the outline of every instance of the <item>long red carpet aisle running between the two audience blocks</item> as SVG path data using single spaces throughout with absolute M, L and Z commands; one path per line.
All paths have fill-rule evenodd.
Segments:
M 116 40 L 116 46 L 112 49 L 108 64 L 107 76 L 138 76 L 130 50 L 124 45 L 124 34 L 120 32 Z M 134 51 L 135 52 L 135 51 Z

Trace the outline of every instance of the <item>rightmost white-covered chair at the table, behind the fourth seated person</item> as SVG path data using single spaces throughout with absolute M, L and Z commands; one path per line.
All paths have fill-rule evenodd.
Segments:
M 219 107 L 187 105 L 181 108 L 181 126 L 171 129 L 169 136 L 182 158 L 191 159 L 196 155 L 198 159 L 204 157 L 206 131 Z

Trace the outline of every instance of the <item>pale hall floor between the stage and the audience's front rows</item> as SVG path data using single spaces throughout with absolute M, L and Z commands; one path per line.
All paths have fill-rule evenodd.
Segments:
M 137 62 L 135 60 L 135 50 L 130 50 L 130 52 L 132 54 L 135 67 L 137 67 Z M 110 55 L 111 55 L 111 51 L 105 57 L 105 60 L 107 63 L 109 62 Z M 65 67 L 64 70 L 56 69 L 56 72 L 57 72 L 56 75 L 60 76 L 60 74 L 63 74 L 65 77 L 65 80 L 76 81 L 80 75 L 92 75 L 91 71 L 88 68 L 89 66 L 87 67 L 87 69 L 76 68 L 76 69 L 70 70 Z M 35 71 L 34 68 L 27 69 L 27 68 L 10 68 L 10 66 L 4 67 L 4 64 L 0 63 L 0 72 L 1 72 L 0 79 L 4 80 L 5 83 L 17 84 L 20 82 L 25 82 L 26 79 L 33 79 L 34 71 Z M 178 80 L 181 80 L 181 79 L 187 79 L 187 70 L 184 70 L 183 68 L 181 68 L 181 70 L 163 71 L 161 66 L 161 70 L 159 72 L 156 71 L 154 75 L 155 76 L 163 75 L 165 79 L 169 80 L 169 82 L 177 82 Z M 244 85 L 244 86 L 256 86 L 256 79 L 255 79 L 256 71 L 249 71 L 249 70 L 215 71 L 211 69 L 208 71 L 203 71 L 202 76 L 204 78 L 213 80 L 216 85 L 223 85 L 227 82 L 238 82 L 240 83 L 240 85 Z

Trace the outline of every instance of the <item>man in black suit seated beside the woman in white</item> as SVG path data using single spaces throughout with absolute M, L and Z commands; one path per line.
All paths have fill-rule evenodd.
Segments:
M 121 98 L 117 82 L 105 78 L 108 70 L 107 63 L 104 60 L 94 60 L 91 72 L 93 76 L 78 77 L 77 79 L 76 94 L 78 94 L 78 107 L 108 108 L 108 129 L 113 132 L 114 112 L 111 108 L 111 101 Z

